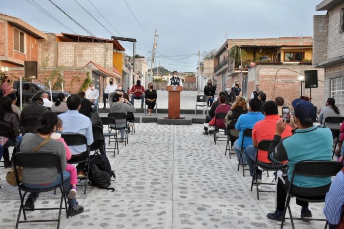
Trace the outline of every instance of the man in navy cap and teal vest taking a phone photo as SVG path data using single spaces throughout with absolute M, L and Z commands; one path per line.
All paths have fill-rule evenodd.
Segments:
M 285 209 L 287 190 L 296 163 L 300 161 L 332 161 L 332 134 L 328 128 L 317 128 L 313 121 L 315 108 L 312 103 L 302 101 L 294 106 L 295 117 L 286 123 L 280 119 L 276 125 L 276 133 L 268 150 L 268 160 L 272 163 L 288 161 L 286 178 L 277 178 L 275 212 L 268 213 L 267 218 L 281 224 Z M 281 135 L 289 125 L 294 134 L 281 140 Z M 307 177 L 295 174 L 293 180 L 293 192 L 307 198 L 318 197 L 318 189 L 327 191 L 331 185 L 331 177 Z M 316 189 L 315 189 L 316 188 Z M 308 209 L 308 202 L 296 199 L 300 205 L 301 218 L 311 218 L 312 212 Z

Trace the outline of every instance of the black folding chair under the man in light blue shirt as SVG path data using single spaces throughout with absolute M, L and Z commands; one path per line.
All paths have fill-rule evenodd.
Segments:
M 85 135 L 82 134 L 73 134 L 73 133 L 66 133 L 62 134 L 61 137 L 64 139 L 64 142 L 68 146 L 76 146 L 76 145 L 86 145 L 86 151 L 80 153 L 80 154 L 74 154 L 72 155 L 72 158 L 67 161 L 68 164 L 80 164 L 80 163 L 86 163 L 86 178 L 79 179 L 79 182 L 83 179 L 85 179 L 85 184 L 78 184 L 78 186 L 85 186 L 84 194 L 86 194 L 87 189 L 87 179 L 88 179 L 88 171 L 89 171 L 89 152 L 90 148 L 87 145 L 87 139 Z M 79 183 L 78 182 L 78 183 Z

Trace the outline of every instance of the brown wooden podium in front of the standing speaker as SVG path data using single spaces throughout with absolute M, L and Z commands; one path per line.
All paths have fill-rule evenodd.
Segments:
M 167 86 L 166 90 L 169 92 L 169 116 L 164 118 L 185 118 L 180 117 L 180 91 L 183 90 L 182 86 Z

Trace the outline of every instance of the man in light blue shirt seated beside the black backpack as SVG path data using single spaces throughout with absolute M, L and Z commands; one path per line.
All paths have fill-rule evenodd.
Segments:
M 80 114 L 78 110 L 80 109 L 80 98 L 76 94 L 72 94 L 67 98 L 68 110 L 65 113 L 59 114 L 58 117 L 62 120 L 63 133 L 76 133 L 86 136 L 87 145 L 93 143 L 93 133 L 92 133 L 92 122 L 89 117 L 84 114 Z M 80 160 L 84 160 L 86 151 L 86 144 L 70 146 L 72 155 L 76 158 L 80 157 Z M 82 155 L 78 155 L 82 154 Z M 77 166 L 78 178 L 86 178 L 86 163 L 80 163 Z

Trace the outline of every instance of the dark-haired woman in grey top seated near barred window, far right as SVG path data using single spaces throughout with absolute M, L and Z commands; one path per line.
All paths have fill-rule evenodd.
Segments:
M 326 107 L 321 108 L 319 114 L 319 123 L 321 127 L 328 127 L 330 129 L 339 129 L 340 123 L 325 123 L 327 117 L 340 117 L 341 113 L 338 107 L 335 105 L 336 100 L 334 98 L 328 98 L 326 101 Z

